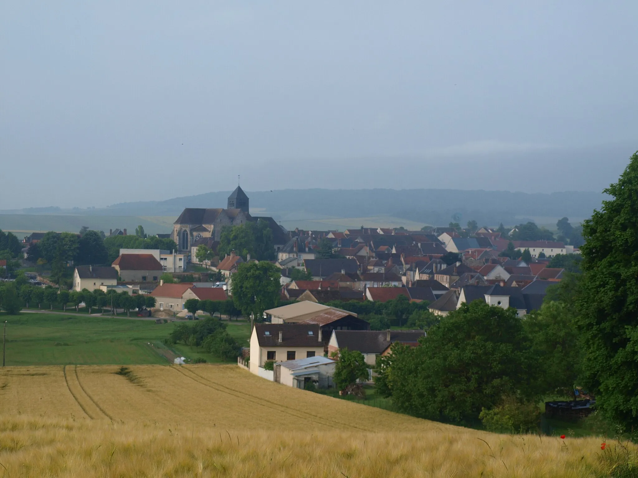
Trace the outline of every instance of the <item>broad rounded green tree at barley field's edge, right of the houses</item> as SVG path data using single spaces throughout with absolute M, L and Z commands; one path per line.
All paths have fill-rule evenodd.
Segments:
M 388 386 L 404 412 L 463 422 L 504 395 L 534 396 L 535 370 L 516 310 L 472 301 L 441 317 L 418 347 L 393 349 Z

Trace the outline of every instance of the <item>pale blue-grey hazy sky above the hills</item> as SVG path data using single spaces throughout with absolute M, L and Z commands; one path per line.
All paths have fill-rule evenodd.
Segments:
M 0 209 L 238 174 L 598 190 L 638 149 L 636 18 L 635 0 L 5 0 Z

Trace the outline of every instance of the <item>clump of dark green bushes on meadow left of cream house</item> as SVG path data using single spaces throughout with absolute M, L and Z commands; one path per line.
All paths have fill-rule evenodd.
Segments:
M 205 351 L 222 359 L 234 359 L 241 354 L 241 347 L 226 331 L 226 324 L 214 317 L 203 321 L 177 324 L 168 335 L 168 344 L 182 342 L 191 347 L 203 347 Z

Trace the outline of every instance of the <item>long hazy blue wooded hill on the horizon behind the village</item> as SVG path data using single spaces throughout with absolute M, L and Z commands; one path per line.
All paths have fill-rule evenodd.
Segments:
M 177 216 L 186 207 L 225 207 L 230 191 L 207 192 L 165 201 L 118 203 L 101 209 L 62 210 L 33 208 L 5 214 L 78 214 L 117 216 Z M 389 216 L 412 222 L 446 225 L 452 217 L 464 224 L 515 224 L 524 219 L 546 218 L 555 222 L 567 216 L 572 221 L 590 217 L 604 199 L 600 192 L 553 192 L 550 194 L 509 191 L 462 191 L 456 189 L 283 189 L 247 192 L 251 212 L 272 215 L 290 226 L 293 221 Z M 47 211 L 48 210 L 48 211 Z M 537 222 L 543 222 L 538 221 Z M 362 224 L 349 224 L 360 226 Z

